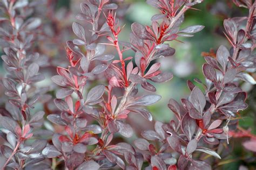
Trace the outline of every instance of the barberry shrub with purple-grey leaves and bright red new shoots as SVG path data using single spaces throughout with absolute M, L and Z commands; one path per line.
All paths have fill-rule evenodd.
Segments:
M 169 42 L 193 37 L 204 29 L 202 25 L 180 29 L 184 13 L 203 1 L 146 2 L 160 13 L 152 16 L 149 26 L 133 23 L 127 41 L 119 40 L 124 28 L 116 13 L 120 2 L 87 0 L 80 4 L 76 18 L 86 27 L 72 24 L 77 38 L 66 42 L 69 66 L 58 66 L 57 75 L 51 77 L 59 86 L 53 100 L 59 111 L 44 118 L 49 109 L 37 111 L 34 105 L 49 102 L 52 89 L 35 83 L 44 79 L 39 68 L 50 61 L 37 53 L 42 19 L 32 17 L 44 4 L 2 0 L 0 42 L 8 96 L 0 112 L 3 169 L 212 169 L 225 155 L 224 144 L 232 140 L 237 128 L 237 112 L 247 108 L 247 94 L 240 85 L 242 81 L 256 83 L 250 75 L 256 66 L 256 2 L 233 0 L 248 10 L 248 16 L 224 20 L 231 47 L 220 46 L 215 57 L 205 56 L 205 80 L 195 79 L 200 88 L 187 81 L 190 96 L 182 98 L 181 104 L 171 99 L 167 105 L 175 117 L 168 123 L 154 121 L 154 130 L 125 143 L 115 138 L 133 136 L 127 117 L 139 114 L 152 122 L 145 107 L 161 99 L 154 94 L 153 84 L 173 77 L 162 72 L 158 62 L 161 56 L 176 52 Z M 118 59 L 107 54 L 107 47 L 114 49 Z M 125 56 L 126 51 L 133 51 L 134 56 Z M 95 84 L 102 75 L 105 82 Z M 55 132 L 49 131 L 54 131 L 49 122 L 58 127 Z

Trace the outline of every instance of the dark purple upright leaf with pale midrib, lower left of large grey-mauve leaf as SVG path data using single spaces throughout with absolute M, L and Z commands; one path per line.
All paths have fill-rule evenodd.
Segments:
M 194 132 L 196 131 L 196 126 L 196 121 L 193 118 L 191 118 L 188 114 L 184 115 L 183 119 L 181 120 L 181 129 L 188 140 L 192 139 Z

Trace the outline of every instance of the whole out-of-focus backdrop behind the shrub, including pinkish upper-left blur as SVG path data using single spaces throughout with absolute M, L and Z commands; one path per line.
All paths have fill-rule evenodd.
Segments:
M 43 18 L 44 26 L 42 29 L 46 34 L 46 36 L 42 35 L 42 42 L 37 42 L 37 50 L 39 53 L 47 55 L 49 62 L 51 62 L 51 66 L 41 70 L 41 72 L 46 74 L 46 79 L 40 82 L 38 86 L 51 86 L 52 91 L 50 95 L 52 96 L 55 95 L 54 89 L 56 86 L 51 82 L 50 77 L 56 73 L 57 65 L 65 66 L 67 64 L 65 60 L 65 41 L 75 38 L 71 25 L 72 22 L 77 22 L 75 16 L 80 13 L 80 2 L 83 1 L 49 0 L 43 8 L 37 9 L 38 13 L 45 15 L 40 17 Z M 129 40 L 129 33 L 131 32 L 131 24 L 133 22 L 150 25 L 151 17 L 158 13 L 157 9 L 146 4 L 144 0 L 125 0 L 121 5 L 121 8 L 124 8 L 124 10 L 119 11 L 117 14 L 120 17 L 120 25 L 125 24 L 124 30 L 120 34 L 120 39 L 125 41 Z M 161 62 L 161 69 L 172 72 L 174 78 L 170 82 L 155 84 L 157 94 L 162 96 L 160 102 L 149 107 L 155 120 L 161 122 L 170 121 L 173 114 L 167 107 L 167 103 L 170 98 L 180 101 L 180 98 L 189 95 L 190 90 L 188 90 L 186 85 L 187 80 L 191 80 L 201 88 L 201 85 L 193 80 L 198 78 L 203 82 L 205 81 L 201 71 L 201 67 L 205 62 L 202 52 L 214 55 L 220 45 L 230 47 L 223 34 L 223 20 L 228 17 L 247 15 L 246 10 L 235 7 L 232 5 L 232 1 L 229 0 L 206 0 L 204 3 L 197 5 L 196 8 L 198 10 L 189 10 L 186 13 L 185 22 L 181 27 L 204 25 L 205 29 L 194 34 L 194 37 L 178 38 L 181 42 L 171 41 L 170 45 L 176 48 L 176 54 L 170 58 L 161 58 L 158 61 Z M 116 54 L 112 51 L 112 48 L 107 50 L 107 52 Z M 0 54 L 3 54 L 2 48 L 0 48 Z M 133 55 L 132 51 L 125 52 L 125 56 Z M 0 77 L 2 78 L 4 75 L 3 62 L 0 60 Z M 104 80 L 104 77 L 102 79 Z M 252 134 L 256 134 L 256 89 L 246 83 L 242 84 L 242 88 L 249 92 L 248 103 L 250 107 L 246 111 L 239 113 L 239 125 L 246 130 L 251 130 Z M 142 91 L 143 89 L 140 90 L 140 93 Z M 4 97 L 2 84 L 0 87 L 0 97 L 0 103 L 3 104 L 6 98 Z M 51 105 L 48 107 L 51 110 Z M 37 105 L 36 109 L 45 110 L 45 106 Z M 147 129 L 152 126 L 152 124 L 139 116 L 131 116 L 129 121 L 138 130 Z M 218 169 L 240 169 L 244 168 L 242 165 L 252 169 L 256 167 L 255 152 L 248 151 L 242 146 L 242 142 L 245 139 L 232 139 L 229 147 L 232 147 L 234 150 L 232 154 L 218 163 L 216 166 Z M 129 140 L 132 141 L 132 138 Z

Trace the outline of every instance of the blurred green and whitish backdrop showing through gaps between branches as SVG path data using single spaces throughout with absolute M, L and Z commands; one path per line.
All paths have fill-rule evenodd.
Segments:
M 77 14 L 79 11 L 79 3 L 82 1 L 77 0 L 59 0 L 57 1 L 56 10 L 66 9 L 72 11 L 73 14 Z M 124 18 L 120 24 L 124 25 L 124 30 L 120 34 L 120 39 L 127 41 L 129 39 L 129 33 L 131 31 L 130 26 L 133 22 L 138 22 L 144 25 L 151 24 L 151 17 L 158 13 L 157 9 L 145 3 L 144 0 L 132 1 L 125 0 L 125 4 L 130 5 Z M 231 1 L 224 0 L 206 0 L 205 2 L 196 5 L 198 10 L 188 10 L 185 15 L 185 21 L 181 25 L 181 28 L 191 25 L 204 25 L 205 29 L 199 33 L 194 34 L 191 38 L 178 38 L 178 41 L 171 41 L 171 47 L 176 49 L 176 54 L 171 58 L 161 58 L 158 62 L 161 62 L 161 69 L 168 70 L 174 74 L 174 78 L 170 82 L 163 84 L 155 84 L 157 88 L 157 94 L 163 98 L 157 104 L 149 107 L 149 110 L 153 114 L 153 118 L 158 121 L 168 122 L 172 118 L 172 112 L 167 108 L 167 103 L 170 98 L 174 98 L 180 101 L 180 98 L 186 97 L 190 90 L 188 90 L 186 81 L 194 78 L 198 78 L 204 82 L 204 76 L 201 71 L 201 67 L 205 62 L 204 57 L 201 56 L 201 52 L 209 52 L 212 48 L 213 51 L 217 51 L 220 45 L 230 47 L 228 41 L 223 36 L 223 20 L 227 17 L 247 15 L 246 10 L 240 10 L 231 5 Z M 75 15 L 70 17 L 70 26 L 73 21 L 76 21 Z M 73 34 L 70 32 L 68 36 L 72 39 Z M 2 54 L 2 51 L 0 51 Z M 125 56 L 133 56 L 134 53 L 128 51 Z M 51 56 L 57 58 L 58 56 Z M 1 67 L 0 73 L 4 76 L 4 69 Z M 48 79 L 49 82 L 49 79 Z M 199 83 L 194 82 L 201 88 Z M 241 113 L 243 116 L 240 119 L 240 125 L 242 128 L 250 128 L 254 134 L 255 132 L 255 89 L 248 84 L 244 84 L 245 90 L 252 90 L 248 95 L 250 104 L 252 107 Z M 140 90 L 143 91 L 143 90 Z M 244 116 L 246 115 L 246 116 Z M 240 140 L 235 140 L 241 143 Z M 231 143 L 232 145 L 232 143 Z M 245 158 L 255 158 L 255 153 L 251 153 L 242 148 L 241 145 L 234 147 L 234 152 L 223 162 L 223 166 L 219 166 L 221 169 L 238 169 L 240 165 L 246 164 Z M 225 161 L 223 160 L 223 161 Z M 220 161 L 221 162 L 221 161 Z M 252 165 L 256 165 L 252 162 Z

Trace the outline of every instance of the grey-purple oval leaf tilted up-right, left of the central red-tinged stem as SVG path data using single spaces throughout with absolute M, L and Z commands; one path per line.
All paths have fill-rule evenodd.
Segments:
M 105 91 L 104 85 L 98 85 L 96 87 L 93 87 L 87 94 L 85 103 L 90 103 L 90 102 L 99 100 L 99 98 L 101 98 L 102 95 L 104 94 L 104 91 Z

